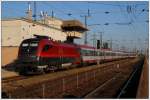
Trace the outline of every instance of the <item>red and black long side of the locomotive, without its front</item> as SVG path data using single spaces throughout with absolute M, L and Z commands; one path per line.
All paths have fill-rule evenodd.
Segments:
M 44 49 L 44 47 L 43 47 Z M 65 66 L 80 63 L 80 53 L 77 48 L 69 44 L 51 44 L 47 51 L 41 51 L 40 65 Z

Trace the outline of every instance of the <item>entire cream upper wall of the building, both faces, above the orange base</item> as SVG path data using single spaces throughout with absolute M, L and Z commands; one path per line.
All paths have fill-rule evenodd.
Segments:
M 57 21 L 56 21 L 57 22 Z M 61 24 L 58 21 L 58 25 Z M 54 40 L 66 40 L 67 35 L 60 29 L 21 19 L 2 20 L 2 46 L 19 46 L 22 40 L 33 34 L 46 35 Z

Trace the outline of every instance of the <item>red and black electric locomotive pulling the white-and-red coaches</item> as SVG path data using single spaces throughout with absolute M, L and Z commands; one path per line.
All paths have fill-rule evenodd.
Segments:
M 81 63 L 80 48 L 75 44 L 55 42 L 46 36 L 22 41 L 18 62 L 21 72 L 55 70 Z

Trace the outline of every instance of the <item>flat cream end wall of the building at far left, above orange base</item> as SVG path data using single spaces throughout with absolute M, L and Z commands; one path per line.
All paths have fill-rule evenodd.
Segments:
M 2 46 L 17 46 L 21 39 L 20 20 L 2 21 Z

